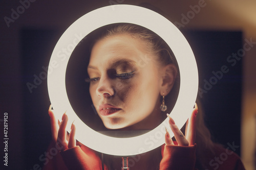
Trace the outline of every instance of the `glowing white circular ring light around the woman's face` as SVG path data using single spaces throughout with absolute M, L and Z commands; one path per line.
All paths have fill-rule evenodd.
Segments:
M 63 48 L 73 51 L 79 41 L 90 32 L 119 22 L 134 23 L 154 31 L 170 46 L 176 56 L 181 77 L 180 92 L 171 116 L 179 128 L 186 122 L 196 101 L 198 70 L 191 47 L 182 33 L 160 14 L 142 7 L 114 5 L 99 8 L 77 19 L 63 33 L 50 59 L 49 68 L 52 67 L 52 70 L 48 71 L 48 91 L 56 117 L 61 120 L 62 114 L 67 110 L 67 127 L 71 127 L 75 120 L 76 138 L 87 147 L 105 154 L 128 156 L 145 153 L 162 145 L 168 118 L 152 131 L 129 138 L 110 137 L 92 130 L 76 115 L 68 99 L 65 76 L 71 53 L 60 57 Z

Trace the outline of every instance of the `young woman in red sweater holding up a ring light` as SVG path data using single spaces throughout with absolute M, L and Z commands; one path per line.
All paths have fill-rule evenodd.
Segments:
M 172 52 L 159 36 L 141 26 L 119 23 L 103 30 L 92 47 L 86 80 L 98 116 L 107 129 L 154 129 L 166 118 L 166 107 L 171 109 L 177 98 L 179 74 Z M 167 115 L 175 141 L 166 131 L 165 145 L 140 155 L 130 169 L 244 169 L 233 153 L 225 162 L 213 164 L 216 161 L 211 159 L 225 150 L 211 142 L 202 118 L 196 126 L 197 113 L 196 105 L 185 135 Z M 102 169 L 99 153 L 76 142 L 75 124 L 67 135 L 68 116 L 63 114 L 58 125 L 53 110 L 49 109 L 49 115 L 54 144 L 62 151 L 45 169 Z M 104 158 L 104 169 L 120 168 L 121 158 Z

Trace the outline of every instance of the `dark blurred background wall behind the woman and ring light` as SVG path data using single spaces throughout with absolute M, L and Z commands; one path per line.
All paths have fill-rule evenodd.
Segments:
M 256 169 L 256 1 L 2 0 L 0 3 L 0 126 L 2 129 L 7 112 L 8 169 L 39 169 L 44 163 L 39 158 L 45 155 L 51 140 L 47 113 L 50 101 L 44 72 L 58 38 L 77 18 L 114 4 L 150 8 L 175 23 L 195 53 L 201 89 L 206 90 L 204 85 L 214 76 L 212 71 L 228 67 L 223 78 L 201 91 L 198 99 L 215 141 L 224 147 L 228 143 L 239 146 L 236 153 L 245 168 Z M 237 57 L 229 57 L 236 54 Z M 36 77 L 41 77 L 41 81 L 35 85 Z

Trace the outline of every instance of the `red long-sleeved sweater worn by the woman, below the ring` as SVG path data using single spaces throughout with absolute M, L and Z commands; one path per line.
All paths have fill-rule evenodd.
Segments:
M 49 150 L 54 147 L 50 145 Z M 196 145 L 189 147 L 181 147 L 177 145 L 162 145 L 162 160 L 160 162 L 160 170 L 196 170 Z M 207 159 L 206 168 L 202 170 L 244 170 L 244 166 L 237 154 L 224 148 L 216 147 L 215 156 L 205 156 Z M 209 162 L 208 162 L 209 161 Z M 102 170 L 99 155 L 80 144 L 74 148 L 60 152 L 53 157 L 44 169 L 66 170 L 66 169 L 92 169 Z M 105 170 L 112 170 L 104 166 Z M 120 163 L 121 169 L 121 163 Z M 138 169 L 139 170 L 139 169 Z

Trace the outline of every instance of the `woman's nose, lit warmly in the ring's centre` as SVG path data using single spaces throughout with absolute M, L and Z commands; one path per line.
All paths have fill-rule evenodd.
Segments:
M 96 94 L 102 98 L 111 98 L 115 95 L 115 89 L 113 83 L 108 76 L 101 76 L 99 80 L 98 87 L 96 89 Z

